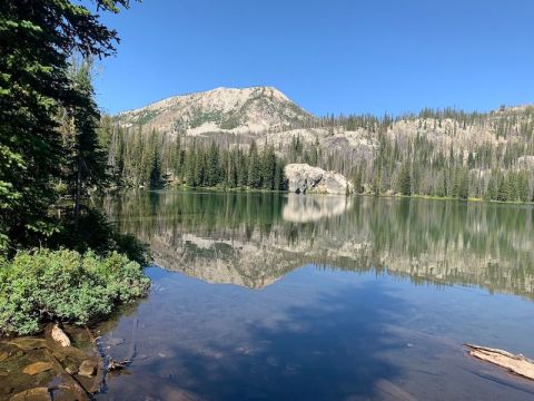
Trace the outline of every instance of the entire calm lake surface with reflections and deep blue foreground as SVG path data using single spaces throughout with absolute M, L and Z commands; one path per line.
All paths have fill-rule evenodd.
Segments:
M 127 193 L 150 295 L 102 324 L 108 400 L 532 400 L 464 343 L 534 358 L 534 209 Z

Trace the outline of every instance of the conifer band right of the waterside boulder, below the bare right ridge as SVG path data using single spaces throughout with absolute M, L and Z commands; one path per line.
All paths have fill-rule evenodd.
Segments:
M 352 177 L 357 193 L 397 193 L 468 197 L 502 202 L 533 199 L 532 166 L 517 166 L 526 149 L 479 146 L 466 153 L 444 153 L 424 136 L 399 144 L 379 137 L 376 157 L 356 164 Z

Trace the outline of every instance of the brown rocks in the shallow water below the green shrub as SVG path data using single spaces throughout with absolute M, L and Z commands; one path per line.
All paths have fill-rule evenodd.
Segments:
M 105 374 L 87 327 L 49 324 L 41 336 L 0 340 L 0 400 L 90 400 Z

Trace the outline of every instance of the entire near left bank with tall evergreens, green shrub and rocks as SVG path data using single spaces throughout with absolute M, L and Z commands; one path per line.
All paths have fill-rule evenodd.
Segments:
M 122 364 L 89 327 L 150 287 L 145 246 L 90 200 L 110 182 L 92 59 L 119 41 L 100 14 L 129 6 L 0 2 L 2 400 L 92 399 Z

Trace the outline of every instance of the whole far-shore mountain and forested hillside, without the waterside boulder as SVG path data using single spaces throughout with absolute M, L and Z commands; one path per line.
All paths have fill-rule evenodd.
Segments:
M 317 118 L 274 88 L 219 88 L 107 117 L 100 135 L 120 185 L 278 189 L 284 164 L 307 163 L 357 193 L 530 202 L 533 117 L 523 106 Z

